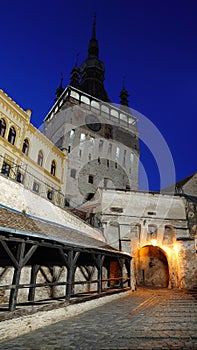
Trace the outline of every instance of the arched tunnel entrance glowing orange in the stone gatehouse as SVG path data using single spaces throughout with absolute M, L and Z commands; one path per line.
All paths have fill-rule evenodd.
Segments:
M 136 256 L 137 285 L 168 287 L 169 269 L 165 253 L 152 245 L 141 248 Z

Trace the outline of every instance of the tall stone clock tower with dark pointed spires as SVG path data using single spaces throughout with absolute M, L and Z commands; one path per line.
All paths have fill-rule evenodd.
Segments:
M 44 120 L 44 134 L 67 153 L 64 195 L 65 206 L 71 209 L 84 208 L 100 187 L 138 189 L 137 120 L 124 86 L 120 108 L 110 102 L 104 73 L 94 17 L 88 57 L 81 66 L 75 64 L 70 85 Z

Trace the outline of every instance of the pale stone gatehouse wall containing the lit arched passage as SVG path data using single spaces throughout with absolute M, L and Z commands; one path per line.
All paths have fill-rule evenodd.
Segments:
M 171 288 L 197 286 L 196 236 L 188 228 L 184 197 L 134 191 L 99 193 L 97 216 L 104 235 L 110 245 L 132 255 L 133 283 L 161 286 L 163 280 Z

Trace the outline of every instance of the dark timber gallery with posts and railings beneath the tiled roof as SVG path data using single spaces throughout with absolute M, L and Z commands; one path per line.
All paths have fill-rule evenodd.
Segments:
M 130 288 L 130 262 L 129 254 L 115 250 L 84 247 L 66 242 L 60 243 L 48 238 L 43 239 L 43 237 L 35 239 L 28 235 L 24 237 L 1 232 L 0 294 L 1 291 L 10 290 L 8 310 L 14 311 L 18 304 L 19 290 L 24 288 L 28 289 L 28 296 L 26 300 L 24 296 L 23 303 L 34 303 L 36 288 L 40 287 L 49 287 L 51 299 L 54 298 L 54 287 L 64 287 L 61 289 L 63 296 L 59 298 L 64 297 L 67 301 L 84 295 L 102 295 L 109 290 L 125 290 Z M 30 281 L 20 283 L 21 276 L 24 280 L 24 267 L 30 269 Z M 60 281 L 61 273 L 54 273 L 57 267 L 66 269 L 65 281 Z M 13 275 L 11 268 L 14 269 Z M 38 272 L 44 277 L 45 282 L 37 282 Z M 79 279 L 79 272 L 85 280 Z M 12 283 L 3 285 L 4 275 L 9 276 L 9 273 L 10 278 L 12 276 Z M 95 275 L 96 278 L 93 279 Z M 86 286 L 86 288 L 85 290 L 83 288 L 83 292 L 75 292 L 78 286 Z

